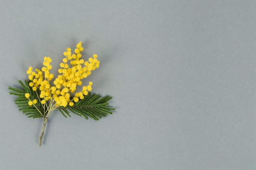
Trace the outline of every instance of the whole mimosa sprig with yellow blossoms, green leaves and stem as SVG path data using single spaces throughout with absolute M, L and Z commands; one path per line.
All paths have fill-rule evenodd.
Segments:
M 70 117 L 70 112 L 99 120 L 102 116 L 112 114 L 115 108 L 109 107 L 108 101 L 111 96 L 100 96 L 99 94 L 91 94 L 92 82 L 83 86 L 81 92 L 76 92 L 76 86 L 82 85 L 82 79 L 91 74 L 92 70 L 99 68 L 99 60 L 97 54 L 90 57 L 88 61 L 81 59 L 83 47 L 82 42 L 76 45 L 76 49 L 72 54 L 71 48 L 67 48 L 63 55 L 63 62 L 60 63 L 58 69 L 59 75 L 52 81 L 54 74 L 50 73 L 52 69 L 52 59 L 44 57 L 43 68 L 35 69 L 29 67 L 27 74 L 29 81 L 19 81 L 22 88 L 9 86 L 9 93 L 17 96 L 16 105 L 22 113 L 29 118 L 43 118 L 43 129 L 39 137 L 39 146 L 41 146 L 44 135 L 45 124 L 50 113 L 58 109 L 63 116 Z M 74 93 L 74 96 L 71 95 Z

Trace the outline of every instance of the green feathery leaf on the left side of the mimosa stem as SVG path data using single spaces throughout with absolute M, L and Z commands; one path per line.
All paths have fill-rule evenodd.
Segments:
M 19 81 L 20 85 L 22 86 L 22 89 L 15 88 L 15 87 L 10 87 L 9 94 L 18 96 L 15 99 L 15 104 L 19 107 L 19 110 L 22 111 L 22 113 L 25 113 L 29 118 L 42 118 L 43 116 L 40 114 L 40 112 L 36 109 L 36 107 L 43 112 L 43 106 L 40 105 L 39 103 L 35 104 L 36 107 L 33 105 L 29 106 L 28 105 L 28 99 L 25 97 L 26 93 L 30 94 L 31 99 L 37 99 L 37 94 L 35 91 L 32 90 L 32 88 L 29 86 L 29 82 L 25 81 L 23 83 L 22 81 Z

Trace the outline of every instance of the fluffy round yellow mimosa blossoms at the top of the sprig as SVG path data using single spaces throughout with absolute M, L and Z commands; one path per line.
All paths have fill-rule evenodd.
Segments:
M 53 74 L 50 74 L 49 70 L 52 69 L 52 59 L 45 57 L 43 61 L 44 67 L 39 70 L 35 69 L 36 72 L 32 71 L 32 67 L 29 67 L 27 74 L 29 74 L 29 86 L 34 91 L 38 88 L 40 90 L 40 102 L 45 104 L 47 100 L 50 103 L 54 103 L 55 107 L 67 105 L 74 105 L 74 102 L 78 102 L 79 99 L 83 99 L 88 94 L 88 91 L 92 90 L 92 82 L 89 82 L 87 86 L 83 86 L 81 92 L 76 92 L 75 96 L 70 99 L 70 93 L 74 93 L 77 85 L 82 85 L 82 79 L 86 78 L 91 74 L 92 70 L 99 67 L 99 61 L 97 60 L 97 54 L 90 57 L 88 61 L 81 59 L 81 51 L 83 51 L 82 42 L 76 45 L 74 53 L 71 53 L 71 49 L 63 53 L 63 62 L 60 63 L 60 69 L 58 69 L 59 75 L 54 80 L 53 84 L 50 85 L 50 81 L 54 78 Z M 69 61 L 69 63 L 68 63 Z M 29 98 L 29 94 L 25 95 Z M 35 104 L 36 101 L 29 100 L 29 105 Z

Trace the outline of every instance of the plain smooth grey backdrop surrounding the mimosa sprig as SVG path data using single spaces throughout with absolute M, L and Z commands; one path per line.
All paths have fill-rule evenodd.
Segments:
M 0 0 L 1 170 L 255 170 L 255 0 Z M 8 86 L 83 41 L 99 121 L 29 119 Z

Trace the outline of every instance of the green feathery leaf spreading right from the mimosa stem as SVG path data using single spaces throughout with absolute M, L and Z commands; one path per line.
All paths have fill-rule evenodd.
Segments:
M 94 120 L 99 120 L 102 116 L 112 114 L 111 110 L 115 110 L 115 108 L 108 107 L 108 100 L 111 98 L 111 96 L 101 97 L 99 94 L 89 93 L 73 106 L 63 107 L 59 110 L 66 118 L 67 116 L 70 116 L 69 111 L 67 111 L 67 109 L 69 109 L 72 113 L 78 116 L 83 116 L 85 119 L 90 117 Z

